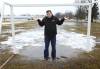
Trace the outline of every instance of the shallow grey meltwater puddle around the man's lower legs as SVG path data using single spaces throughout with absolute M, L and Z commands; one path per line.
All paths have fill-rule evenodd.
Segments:
M 25 47 L 20 51 L 20 55 L 26 56 L 27 59 L 43 59 L 43 50 L 44 47 Z M 77 55 L 80 52 L 83 52 L 82 50 L 79 49 L 73 49 L 71 47 L 67 46 L 57 46 L 56 47 L 57 51 L 57 58 L 71 58 L 71 57 L 77 57 Z M 51 55 L 51 46 L 49 47 L 49 55 Z

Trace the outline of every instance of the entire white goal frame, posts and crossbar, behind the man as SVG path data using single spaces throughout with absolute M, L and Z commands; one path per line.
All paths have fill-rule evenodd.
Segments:
M 98 3 L 99 1 L 95 1 L 94 3 Z M 7 2 L 3 2 L 3 7 L 1 10 L 1 17 L 0 17 L 0 34 L 2 31 L 2 21 L 4 17 L 4 5 L 10 6 L 10 23 L 12 29 L 12 41 L 15 41 L 15 24 L 14 24 L 14 7 L 50 7 L 50 6 L 88 6 L 88 24 L 87 24 L 87 36 L 90 36 L 91 33 L 91 12 L 92 12 L 92 4 L 94 3 L 73 3 L 73 4 L 10 4 Z

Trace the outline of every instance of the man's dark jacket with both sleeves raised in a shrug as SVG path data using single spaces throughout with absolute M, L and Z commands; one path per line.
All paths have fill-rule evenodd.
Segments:
M 56 24 L 62 25 L 64 22 L 64 18 L 59 20 L 57 17 L 52 16 L 51 18 L 44 17 L 41 20 L 38 19 L 38 23 L 40 26 L 45 26 L 44 34 L 45 36 L 54 36 L 57 34 L 57 27 Z

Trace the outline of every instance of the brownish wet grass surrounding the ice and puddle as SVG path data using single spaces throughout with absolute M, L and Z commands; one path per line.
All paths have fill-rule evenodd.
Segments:
M 38 27 L 36 21 L 29 21 L 26 23 L 16 24 L 17 29 L 34 29 Z M 8 36 L 11 36 L 10 25 L 3 26 L 3 33 L 0 36 L 0 42 L 7 40 Z M 64 26 L 64 29 L 74 31 L 78 33 L 86 34 L 86 26 L 83 24 L 77 24 L 77 26 Z M 74 29 L 74 30 L 71 30 Z M 8 32 L 7 32 L 8 31 Z M 16 34 L 23 31 L 17 31 Z M 5 35 L 5 36 L 3 36 Z M 8 36 L 7 36 L 8 35 Z M 96 39 L 100 39 L 100 23 L 92 23 L 91 35 L 96 36 Z M 16 54 L 11 61 L 9 61 L 2 69 L 100 69 L 100 45 L 96 45 L 95 49 L 91 52 L 82 52 L 77 57 L 70 59 L 65 58 L 64 61 L 43 61 L 43 60 L 27 60 L 24 56 Z M 0 65 L 12 53 L 9 50 L 5 50 L 0 53 Z M 24 59 L 23 59 L 24 58 Z

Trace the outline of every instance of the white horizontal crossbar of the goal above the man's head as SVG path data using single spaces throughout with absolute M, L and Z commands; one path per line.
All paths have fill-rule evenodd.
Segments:
M 50 6 L 89 6 L 94 3 L 98 3 L 100 1 L 95 1 L 93 3 L 72 3 L 72 4 L 10 4 L 4 2 L 6 5 L 13 6 L 13 7 L 50 7 Z

